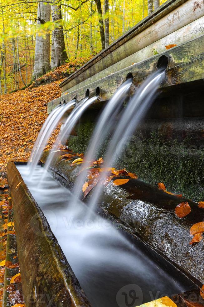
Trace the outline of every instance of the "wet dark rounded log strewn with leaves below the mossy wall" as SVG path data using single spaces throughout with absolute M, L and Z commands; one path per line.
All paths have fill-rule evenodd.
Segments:
M 44 153 L 42 162 L 46 161 L 47 154 Z M 56 155 L 50 171 L 61 184 L 71 189 L 80 167 L 70 166 L 71 161 L 66 162 L 59 155 Z M 93 193 L 94 188 L 85 197 L 85 202 L 91 199 Z M 174 210 L 183 201 L 188 201 L 191 213 L 180 219 Z M 130 179 L 125 185 L 115 186 L 110 182 L 104 186 L 99 205 L 116 221 L 121 221 L 126 231 L 136 234 L 176 263 L 187 276 L 191 274 L 198 285 L 204 284 L 204 242 L 202 240 L 193 247 L 189 244 L 192 239 L 189 233 L 191 226 L 204 218 L 204 210 L 198 208 L 197 203 L 167 194 L 141 180 Z

